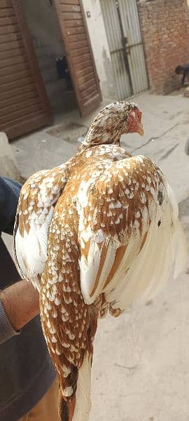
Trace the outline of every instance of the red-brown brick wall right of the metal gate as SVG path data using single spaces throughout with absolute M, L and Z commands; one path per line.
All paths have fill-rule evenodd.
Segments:
M 186 0 L 138 0 L 141 34 L 153 93 L 179 87 L 175 67 L 189 63 L 189 11 Z

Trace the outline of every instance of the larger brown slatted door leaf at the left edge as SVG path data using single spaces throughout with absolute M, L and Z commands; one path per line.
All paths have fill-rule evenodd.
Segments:
M 51 122 L 22 0 L 0 0 L 0 131 L 11 139 Z

